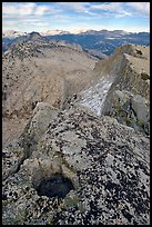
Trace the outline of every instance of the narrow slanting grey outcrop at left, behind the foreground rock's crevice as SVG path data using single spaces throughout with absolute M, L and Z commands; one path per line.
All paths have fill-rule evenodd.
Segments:
M 36 149 L 41 136 L 45 132 L 50 120 L 58 116 L 58 110 L 48 102 L 38 102 L 29 122 L 18 140 L 3 148 L 3 156 L 9 157 L 9 162 L 3 161 L 2 177 L 6 179 L 10 172 L 16 172 L 19 166 Z

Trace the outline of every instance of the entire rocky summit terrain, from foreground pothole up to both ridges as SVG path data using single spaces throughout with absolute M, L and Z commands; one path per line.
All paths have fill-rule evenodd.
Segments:
M 3 225 L 150 225 L 149 66 L 37 32 L 4 52 Z

